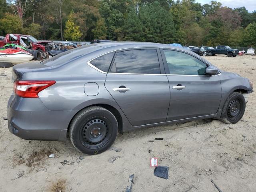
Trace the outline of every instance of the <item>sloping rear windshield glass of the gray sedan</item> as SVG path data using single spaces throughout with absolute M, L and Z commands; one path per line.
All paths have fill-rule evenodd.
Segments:
M 100 48 L 101 47 L 94 46 L 94 45 L 81 46 L 78 48 L 74 48 L 74 49 L 65 51 L 56 56 L 53 56 L 52 58 L 41 62 L 41 64 L 47 65 L 47 66 L 57 66 L 57 65 L 66 64 L 66 63 L 72 62 L 72 60 L 75 60 L 81 56 L 89 54 L 89 53 L 91 53 L 95 50 L 98 50 Z

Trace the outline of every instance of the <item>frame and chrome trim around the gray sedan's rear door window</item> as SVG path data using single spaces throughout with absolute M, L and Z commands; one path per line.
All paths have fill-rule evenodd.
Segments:
M 157 53 L 157 57 L 158 57 L 158 62 L 159 62 L 159 67 L 160 67 L 160 74 L 148 74 L 148 73 L 120 73 L 120 72 L 114 72 L 116 71 L 115 66 L 114 66 L 114 62 L 116 59 L 116 54 L 118 52 L 123 52 L 123 51 L 129 51 L 129 50 L 139 50 L 139 49 L 154 49 L 156 50 Z M 116 50 L 116 53 L 114 54 L 114 57 L 112 59 L 112 62 L 110 64 L 110 70 L 108 72 L 108 74 L 128 74 L 128 75 L 166 75 L 165 74 L 165 69 L 164 69 L 164 63 L 162 60 L 162 56 L 161 56 L 161 52 L 160 49 L 158 47 L 136 47 L 136 48 L 126 48 L 126 49 L 120 49 L 120 50 Z

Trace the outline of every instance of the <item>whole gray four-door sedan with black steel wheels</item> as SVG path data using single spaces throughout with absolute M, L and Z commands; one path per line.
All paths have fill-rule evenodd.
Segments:
M 12 69 L 8 127 L 28 140 L 65 142 L 86 154 L 118 132 L 214 118 L 238 122 L 252 83 L 188 49 L 144 42 L 75 48 Z

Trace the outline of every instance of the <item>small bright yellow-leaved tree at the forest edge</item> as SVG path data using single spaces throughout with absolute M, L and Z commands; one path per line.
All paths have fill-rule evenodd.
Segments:
M 69 14 L 68 20 L 65 24 L 64 38 L 66 40 L 79 41 L 82 36 L 82 32 L 80 31 L 80 27 L 75 25 L 73 14 L 74 12 Z

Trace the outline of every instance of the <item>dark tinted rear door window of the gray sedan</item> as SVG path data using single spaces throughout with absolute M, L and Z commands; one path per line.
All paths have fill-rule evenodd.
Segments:
M 111 72 L 160 74 L 157 51 L 156 49 L 137 49 L 118 52 Z

